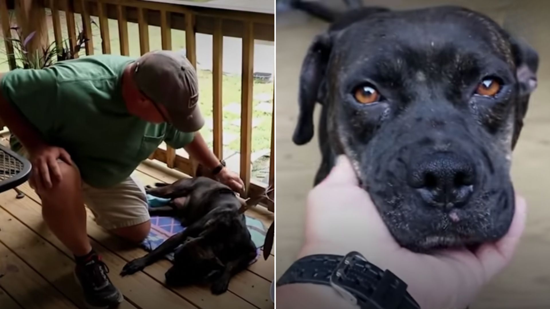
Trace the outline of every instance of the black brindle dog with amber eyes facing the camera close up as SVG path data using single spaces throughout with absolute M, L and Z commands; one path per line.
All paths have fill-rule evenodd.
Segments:
M 511 151 L 536 87 L 537 53 L 464 8 L 338 14 L 294 4 L 332 23 L 305 56 L 293 137 L 311 140 L 320 103 L 315 183 L 348 156 L 410 250 L 501 238 L 514 214 Z

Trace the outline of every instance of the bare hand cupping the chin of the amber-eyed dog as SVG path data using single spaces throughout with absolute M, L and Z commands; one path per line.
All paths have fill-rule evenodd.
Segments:
M 508 233 L 497 242 L 481 245 L 474 252 L 415 253 L 394 240 L 370 196 L 359 187 L 351 163 L 340 156 L 331 174 L 309 194 L 300 257 L 358 251 L 408 284 L 407 290 L 422 309 L 463 309 L 510 262 L 525 226 L 525 200 L 516 196 L 515 207 Z

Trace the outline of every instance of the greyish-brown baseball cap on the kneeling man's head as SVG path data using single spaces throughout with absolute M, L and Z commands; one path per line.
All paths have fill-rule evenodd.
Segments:
M 134 81 L 139 90 L 168 111 L 170 123 L 182 132 L 196 132 L 205 121 L 199 82 L 193 65 L 179 52 L 154 51 L 136 60 Z

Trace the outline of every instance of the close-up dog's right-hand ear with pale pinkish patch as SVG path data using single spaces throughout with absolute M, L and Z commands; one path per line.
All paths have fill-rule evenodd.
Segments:
M 516 78 L 519 83 L 518 102 L 515 107 L 512 149 L 518 142 L 523 119 L 529 107 L 529 97 L 537 87 L 538 54 L 525 41 L 510 38 L 511 51 L 516 65 Z

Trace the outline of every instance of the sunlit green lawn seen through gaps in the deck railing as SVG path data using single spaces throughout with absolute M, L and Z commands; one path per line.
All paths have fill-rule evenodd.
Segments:
M 59 12 L 61 17 L 62 25 L 62 35 L 64 38 L 68 37 L 67 34 L 67 23 L 65 21 L 64 12 Z M 48 37 L 53 41 L 53 27 L 51 18 L 48 14 Z M 92 20 L 99 25 L 99 20 L 97 17 L 92 16 Z M 80 14 L 75 14 L 75 21 L 77 31 L 82 29 L 82 19 Z M 78 33 L 78 32 L 77 32 Z M 118 36 L 118 23 L 117 20 L 109 19 L 109 35 L 111 38 L 111 53 L 120 54 L 120 42 Z M 136 23 L 128 23 L 128 35 L 129 35 L 129 47 L 130 47 L 130 56 L 139 57 L 140 48 L 139 48 L 139 27 Z M 101 34 L 100 29 L 96 25 L 92 25 L 92 40 L 94 45 L 94 54 L 101 54 Z M 150 49 L 161 49 L 161 29 L 157 26 L 149 26 L 149 41 Z M 3 38 L 0 40 L 0 48 L 4 48 Z M 172 49 L 178 50 L 185 48 L 185 31 L 172 29 Z M 79 53 L 80 56 L 85 56 L 85 51 L 82 50 Z M 272 61 L 272 59 L 270 59 Z M 0 70 L 8 71 L 9 67 L 7 64 L 7 57 L 5 56 L 5 51 L 0 54 Z M 201 112 L 204 114 L 206 120 L 212 119 L 212 73 L 206 70 L 199 70 L 199 103 Z M 257 97 L 267 97 L 270 98 L 266 101 L 272 102 L 273 98 L 273 83 L 262 83 L 255 82 L 254 87 L 254 97 L 253 102 L 253 118 L 257 126 L 252 129 L 252 152 L 268 150 L 271 147 L 271 120 L 272 112 L 262 112 L 259 111 L 256 107 L 260 104 L 260 100 Z M 235 120 L 239 121 L 240 113 L 231 113 L 226 110 L 226 108 L 233 103 L 240 104 L 241 100 L 241 76 L 240 75 L 224 75 L 223 77 L 223 131 L 224 134 L 228 136 L 237 136 L 237 139 L 230 141 L 228 145 L 224 146 L 224 154 L 227 156 L 229 153 L 239 152 L 240 150 L 240 125 L 232 124 Z M 265 99 L 264 99 L 265 100 Z M 211 143 L 212 141 L 212 129 L 208 125 L 201 130 L 201 134 L 205 137 L 207 141 Z M 225 142 L 224 142 L 225 144 Z M 210 145 L 212 146 L 212 144 Z

